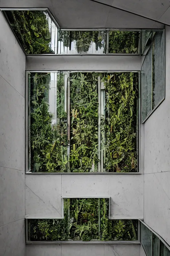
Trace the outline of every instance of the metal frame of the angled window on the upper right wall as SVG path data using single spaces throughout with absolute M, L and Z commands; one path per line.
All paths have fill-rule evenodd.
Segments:
M 164 89 L 164 95 L 163 95 L 163 98 L 162 98 L 162 100 L 160 100 L 160 102 L 158 102 L 157 103 L 157 105 L 151 110 L 151 112 L 142 120 L 142 107 L 141 107 L 141 120 L 142 120 L 142 124 L 144 124 L 145 123 L 145 121 L 153 114 L 153 112 L 159 107 L 159 105 L 165 100 L 165 29 L 153 29 L 152 30 L 152 32 L 157 32 L 157 31 L 163 31 L 163 41 L 164 41 L 164 51 L 163 51 L 163 55 L 164 55 L 164 80 L 163 80 L 163 89 Z M 152 35 L 152 39 L 153 39 L 153 37 L 154 37 L 154 35 Z M 150 47 L 152 47 L 152 44 L 151 44 L 151 46 Z M 147 49 L 147 52 L 148 52 L 148 50 L 150 49 L 150 47 L 148 47 L 148 49 Z M 145 53 L 145 56 L 146 56 L 146 54 L 147 54 L 147 52 Z M 152 58 L 153 58 L 153 50 L 152 50 Z M 144 60 L 143 60 L 143 62 L 144 62 Z M 153 67 L 153 61 L 152 61 L 152 59 L 151 59 L 151 63 L 152 63 L 152 67 Z M 143 66 L 143 63 L 142 63 L 142 65 L 141 65 L 141 68 L 142 68 L 142 66 Z M 153 73 L 153 71 L 152 71 L 152 73 Z M 151 91 L 151 94 L 153 93 L 153 90 Z M 142 84 L 141 84 L 141 96 L 142 96 Z M 152 100 L 152 99 L 151 99 Z M 142 100 L 141 100 L 141 102 L 142 102 Z M 151 108 L 152 108 L 152 105 L 151 105 Z

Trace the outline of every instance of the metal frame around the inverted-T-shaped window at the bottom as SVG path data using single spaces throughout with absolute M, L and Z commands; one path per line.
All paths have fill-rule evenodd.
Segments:
M 109 220 L 119 220 L 119 219 L 126 219 L 126 220 L 132 220 L 134 218 L 110 218 L 110 202 L 111 202 L 111 197 L 109 196 L 93 196 L 93 197 L 86 197 L 86 196 L 62 196 L 62 217 L 58 218 L 43 218 L 43 217 L 26 217 L 25 218 L 25 232 L 26 232 L 26 244 L 140 244 L 140 222 L 138 220 L 138 227 L 137 227 L 137 240 L 122 240 L 122 241 L 89 241 L 89 242 L 83 242 L 83 241 L 30 241 L 28 240 L 28 220 L 29 219 L 63 219 L 64 218 L 64 199 L 69 199 L 69 198 L 108 198 L 109 199 Z

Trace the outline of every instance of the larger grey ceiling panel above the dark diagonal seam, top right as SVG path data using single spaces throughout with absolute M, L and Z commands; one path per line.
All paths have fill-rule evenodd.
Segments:
M 92 0 L 93 1 L 93 0 Z M 158 21 L 169 8 L 169 0 L 97 0 L 134 14 Z

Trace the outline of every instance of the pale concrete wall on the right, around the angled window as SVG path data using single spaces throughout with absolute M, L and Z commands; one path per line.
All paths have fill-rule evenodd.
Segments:
M 144 222 L 170 244 L 170 27 L 163 103 L 144 124 Z

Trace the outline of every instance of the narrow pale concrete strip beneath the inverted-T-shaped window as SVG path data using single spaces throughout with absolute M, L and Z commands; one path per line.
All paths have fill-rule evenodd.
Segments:
M 27 244 L 26 251 L 27 256 L 139 256 L 140 244 Z

